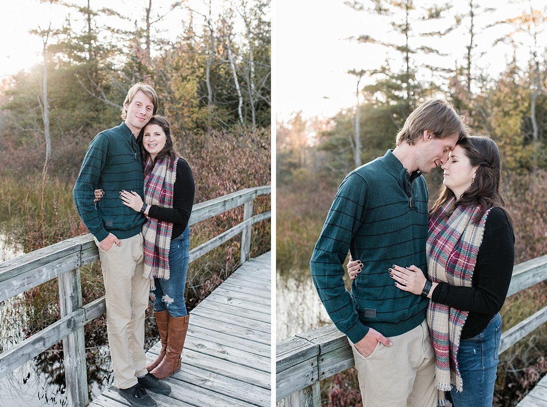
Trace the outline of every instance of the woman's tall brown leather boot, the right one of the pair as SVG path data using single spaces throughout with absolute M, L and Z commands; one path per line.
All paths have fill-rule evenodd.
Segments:
M 190 315 L 169 317 L 169 333 L 167 335 L 165 358 L 160 362 L 158 367 L 150 372 L 158 377 L 158 379 L 165 379 L 176 371 L 181 370 L 181 353 L 184 348 L 186 332 L 188 331 L 188 319 L 190 319 Z

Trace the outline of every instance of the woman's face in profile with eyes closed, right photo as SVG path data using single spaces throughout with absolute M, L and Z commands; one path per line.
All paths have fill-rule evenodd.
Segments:
M 444 170 L 443 184 L 456 195 L 457 199 L 467 190 L 478 166 L 472 167 L 464 149 L 457 144 L 450 152 L 449 159 L 441 165 Z

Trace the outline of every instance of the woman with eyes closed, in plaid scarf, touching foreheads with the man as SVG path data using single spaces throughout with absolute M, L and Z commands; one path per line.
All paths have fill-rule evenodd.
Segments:
M 414 265 L 388 272 L 397 288 L 431 299 L 439 405 L 450 390 L 455 407 L 491 407 L 515 242 L 499 192 L 499 151 L 488 137 L 464 138 L 441 168 L 443 187 L 429 213 L 428 278 Z M 359 263 L 348 263 L 352 280 Z

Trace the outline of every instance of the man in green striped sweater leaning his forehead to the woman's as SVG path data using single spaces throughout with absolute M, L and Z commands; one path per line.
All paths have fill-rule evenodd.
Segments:
M 428 300 L 395 287 L 388 268 L 427 269 L 428 192 L 422 173 L 444 164 L 467 133 L 451 104 L 423 103 L 406 119 L 395 149 L 342 181 L 313 251 L 313 282 L 350 341 L 364 407 L 437 405 Z M 342 280 L 348 249 L 364 261 L 351 294 Z

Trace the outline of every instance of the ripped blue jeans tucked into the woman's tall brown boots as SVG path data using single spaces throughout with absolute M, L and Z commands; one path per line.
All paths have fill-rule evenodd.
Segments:
M 172 317 L 188 315 L 184 304 L 184 287 L 188 274 L 188 249 L 190 247 L 190 228 L 187 226 L 177 239 L 171 240 L 169 248 L 169 280 L 155 278 L 156 289 L 150 291 L 154 311 L 167 310 Z

